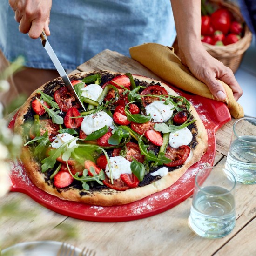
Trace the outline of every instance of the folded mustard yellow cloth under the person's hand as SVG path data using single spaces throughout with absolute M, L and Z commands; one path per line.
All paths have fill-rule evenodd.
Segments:
M 182 64 L 172 47 L 156 43 L 146 43 L 131 47 L 130 55 L 134 60 L 139 61 L 142 65 L 148 67 L 152 72 L 177 88 L 209 99 L 215 99 L 207 85 L 195 78 L 189 69 Z M 223 102 L 227 104 L 230 114 L 234 118 L 243 117 L 243 107 L 234 99 L 231 88 L 224 82 L 220 82 L 227 95 Z

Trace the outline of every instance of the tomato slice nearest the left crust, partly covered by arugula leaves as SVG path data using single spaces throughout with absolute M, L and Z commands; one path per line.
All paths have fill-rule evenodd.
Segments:
M 34 128 L 35 128 L 34 125 L 32 125 L 29 130 L 29 136 L 32 140 L 35 138 Z M 43 135 L 46 132 L 46 130 L 48 130 L 48 137 L 51 142 L 54 141 L 56 135 L 59 133 L 58 132 L 59 129 L 60 129 L 60 126 L 58 124 L 53 123 L 51 119 L 40 120 L 40 124 L 39 124 L 40 136 Z

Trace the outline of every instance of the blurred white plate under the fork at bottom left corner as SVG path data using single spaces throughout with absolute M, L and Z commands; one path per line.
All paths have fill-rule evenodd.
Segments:
M 36 241 L 17 243 L 2 250 L 2 256 L 56 256 L 61 248 L 62 242 Z M 73 245 L 70 245 L 74 249 Z M 74 256 L 78 256 L 81 249 L 75 248 Z

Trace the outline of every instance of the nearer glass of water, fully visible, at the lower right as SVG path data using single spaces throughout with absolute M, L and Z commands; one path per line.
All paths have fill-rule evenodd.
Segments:
M 220 238 L 235 227 L 234 175 L 225 168 L 207 167 L 195 177 L 189 226 L 199 236 Z

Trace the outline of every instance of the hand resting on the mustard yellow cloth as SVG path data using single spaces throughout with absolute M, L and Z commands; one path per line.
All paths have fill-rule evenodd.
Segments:
M 186 53 L 181 52 L 180 57 L 182 64 L 189 67 L 192 74 L 208 86 L 216 99 L 224 100 L 226 98 L 225 90 L 216 78 L 229 85 L 236 101 L 242 96 L 243 90 L 236 81 L 232 70 L 212 57 L 201 42 L 198 42 L 193 50 Z

